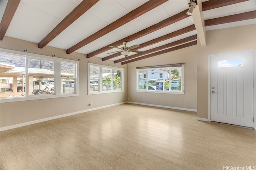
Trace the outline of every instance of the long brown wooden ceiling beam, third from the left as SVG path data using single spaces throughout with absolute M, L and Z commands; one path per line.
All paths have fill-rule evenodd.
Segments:
M 166 1 L 168 1 L 168 0 L 158 0 L 158 1 L 149 0 L 148 2 L 142 4 L 141 6 L 136 8 L 135 10 L 132 10 L 131 12 L 126 14 L 125 16 L 122 16 L 118 20 L 110 23 L 106 27 L 100 29 L 96 33 L 87 37 L 86 39 L 84 39 L 84 40 L 80 41 L 79 43 L 77 43 L 76 45 L 70 47 L 69 49 L 67 49 L 67 54 L 70 54 L 70 53 L 76 51 L 77 49 L 80 49 L 81 47 L 84 47 L 88 43 L 91 43 L 92 41 L 102 37 L 103 35 L 106 35 L 107 33 L 110 33 L 111 31 L 113 31 L 113 30 L 117 29 L 118 27 L 128 23 L 129 21 L 134 20 L 135 18 L 141 16 L 142 14 L 145 14 L 146 12 L 148 12 L 148 11 L 154 9 L 154 8 L 156 8 L 157 6 L 163 4 Z

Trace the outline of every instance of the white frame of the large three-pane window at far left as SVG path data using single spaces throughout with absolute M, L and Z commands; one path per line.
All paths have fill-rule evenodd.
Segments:
M 62 59 L 58 57 L 50 57 L 45 55 L 38 55 L 33 53 L 27 53 L 22 51 L 14 51 L 9 49 L 0 49 L 1 53 L 9 53 L 13 55 L 20 55 L 22 57 L 26 57 L 26 80 L 28 80 L 28 58 L 30 59 L 45 59 L 48 61 L 54 61 L 54 94 L 44 94 L 44 95 L 28 95 L 28 91 L 26 90 L 26 96 L 23 97 L 14 97 L 14 98 L 0 98 L 0 103 L 7 102 L 19 102 L 19 101 L 27 101 L 27 100 L 38 100 L 38 99 L 49 99 L 49 98 L 62 98 L 62 97 L 71 97 L 71 96 L 79 96 L 79 62 L 69 59 Z M 68 62 L 76 64 L 75 71 L 75 92 L 74 93 L 61 93 L 61 75 L 60 75 L 60 62 Z M 26 83 L 26 89 L 28 89 L 28 84 Z M 60 87 L 60 88 L 56 88 Z

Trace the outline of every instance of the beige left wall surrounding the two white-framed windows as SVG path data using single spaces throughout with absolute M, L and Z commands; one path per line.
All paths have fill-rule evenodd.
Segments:
M 102 62 L 98 57 L 86 58 L 86 55 L 80 53 L 66 54 L 66 50 L 57 49 L 54 47 L 38 48 L 38 44 L 28 41 L 22 41 L 20 39 L 14 39 L 10 37 L 4 37 L 1 41 L 1 48 L 11 49 L 16 51 L 24 51 L 27 49 L 28 53 L 40 54 L 52 56 L 55 55 L 59 58 L 72 59 L 79 61 L 79 86 L 80 94 L 75 97 L 65 98 L 53 98 L 42 100 L 29 100 L 22 102 L 9 102 L 0 104 L 0 127 L 6 127 L 10 125 L 16 125 L 19 123 L 25 123 L 28 121 L 35 121 L 47 117 L 53 117 L 63 115 L 67 113 L 73 113 L 76 111 L 82 111 L 86 109 L 92 109 L 95 107 L 108 106 L 111 104 L 117 104 L 126 101 L 126 89 L 127 89 L 127 70 L 124 68 L 124 92 L 108 93 L 108 94 L 95 94 L 88 95 L 88 61 L 91 63 L 107 65 L 115 67 L 126 67 L 121 64 L 114 64 L 114 61 Z M 90 103 L 93 106 L 89 106 Z M 96 102 L 98 106 L 96 106 Z

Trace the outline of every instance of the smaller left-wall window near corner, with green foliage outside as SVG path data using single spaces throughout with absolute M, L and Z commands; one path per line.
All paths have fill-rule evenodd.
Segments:
M 88 94 L 123 91 L 123 68 L 88 64 Z

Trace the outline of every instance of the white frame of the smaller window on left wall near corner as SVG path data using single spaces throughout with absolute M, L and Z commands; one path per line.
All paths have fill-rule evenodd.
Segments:
M 90 66 L 96 66 L 99 67 L 99 81 L 98 81 L 98 91 L 90 91 Z M 110 68 L 112 70 L 121 70 L 121 90 L 114 90 L 113 88 L 113 77 L 111 80 L 112 84 L 112 90 L 107 90 L 107 91 L 102 91 L 102 68 Z M 113 74 L 111 73 L 113 76 Z M 102 94 L 102 93 L 116 93 L 116 92 L 124 92 L 124 68 L 119 68 L 119 67 L 112 67 L 112 66 L 106 66 L 106 65 L 100 65 L 100 64 L 93 64 L 93 63 L 88 63 L 88 95 L 92 94 Z

